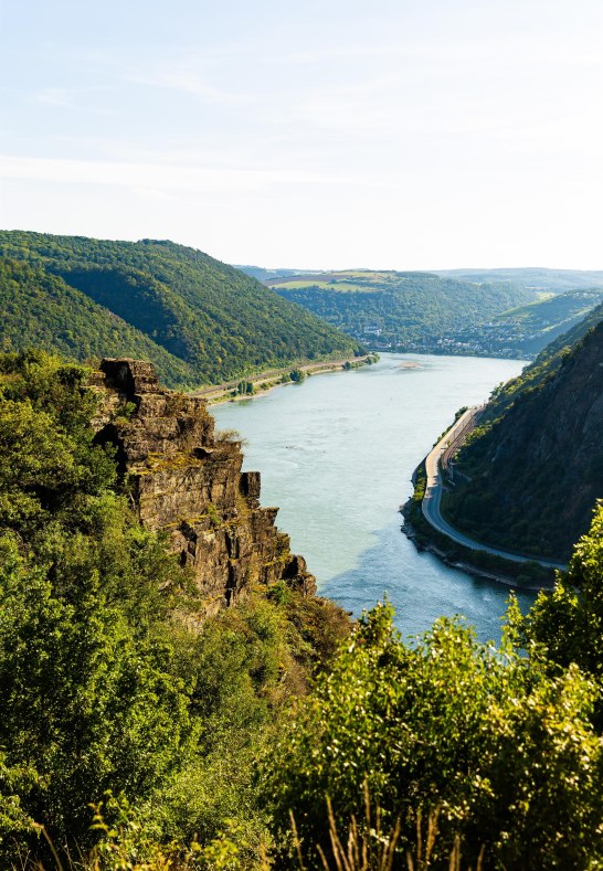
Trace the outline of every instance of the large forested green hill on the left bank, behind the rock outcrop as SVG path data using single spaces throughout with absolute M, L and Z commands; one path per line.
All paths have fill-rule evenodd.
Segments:
M 359 350 L 255 279 L 172 242 L 7 231 L 0 257 L 6 350 L 142 357 L 170 386 Z

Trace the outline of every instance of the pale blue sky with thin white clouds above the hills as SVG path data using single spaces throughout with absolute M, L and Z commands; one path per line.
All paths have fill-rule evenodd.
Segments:
M 601 0 L 0 0 L 0 227 L 603 268 Z

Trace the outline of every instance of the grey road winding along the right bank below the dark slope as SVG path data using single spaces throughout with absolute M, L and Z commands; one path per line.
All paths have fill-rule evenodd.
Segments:
M 469 539 L 468 535 L 464 535 L 462 532 L 458 532 L 458 530 L 454 529 L 454 527 L 451 527 L 451 524 L 442 517 L 441 502 L 443 481 L 442 471 L 440 469 L 440 460 L 445 454 L 448 458 L 451 458 L 452 454 L 461 447 L 467 435 L 475 427 L 476 419 L 479 417 L 483 407 L 483 405 L 478 405 L 474 408 L 468 408 L 468 411 L 466 411 L 458 418 L 458 421 L 456 421 L 454 426 L 452 426 L 447 433 L 445 433 L 432 452 L 427 454 L 425 459 L 427 481 L 425 486 L 425 496 L 423 497 L 423 502 L 421 503 L 423 517 L 435 530 L 442 532 L 448 539 L 456 541 L 458 544 L 463 544 L 465 548 L 470 548 L 474 551 L 485 551 L 486 553 L 491 553 L 495 556 L 501 556 L 505 560 L 510 560 L 514 563 L 538 563 L 539 565 L 543 565 L 547 569 L 567 569 L 563 563 L 537 560 L 535 556 L 521 556 L 520 554 L 511 553 L 510 551 L 501 551 L 497 548 L 489 548 L 487 544 L 482 544 L 482 542 Z

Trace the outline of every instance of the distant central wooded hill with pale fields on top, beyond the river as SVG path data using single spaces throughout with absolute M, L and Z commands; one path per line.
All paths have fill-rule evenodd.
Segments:
M 285 299 L 381 350 L 462 351 L 443 337 L 535 299 L 510 285 L 431 273 L 349 270 L 269 279 Z

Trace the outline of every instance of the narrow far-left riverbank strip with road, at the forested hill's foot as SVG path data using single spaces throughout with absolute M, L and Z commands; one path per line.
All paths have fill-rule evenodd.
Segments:
M 379 354 L 364 354 L 363 357 L 347 357 L 339 360 L 322 360 L 316 363 L 271 369 L 256 375 L 247 375 L 224 384 L 215 384 L 191 393 L 192 396 L 203 396 L 209 405 L 219 405 L 224 402 L 237 402 L 251 396 L 265 394 L 275 387 L 304 381 L 308 375 L 319 375 L 326 372 L 346 372 L 363 365 L 371 365 L 379 360 Z

